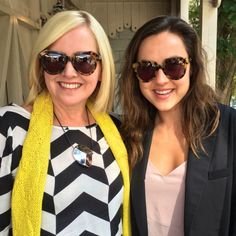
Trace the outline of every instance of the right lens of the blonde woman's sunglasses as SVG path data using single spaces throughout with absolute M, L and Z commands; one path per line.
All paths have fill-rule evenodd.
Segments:
M 81 74 L 90 75 L 95 71 L 97 62 L 90 54 L 77 54 L 73 59 L 73 65 Z

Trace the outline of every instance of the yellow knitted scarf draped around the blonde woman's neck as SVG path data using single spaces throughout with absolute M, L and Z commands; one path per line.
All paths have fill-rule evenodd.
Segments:
M 124 182 L 123 235 L 130 235 L 129 167 L 127 152 L 120 134 L 106 113 L 96 112 L 88 104 L 97 124 L 111 148 L 121 169 Z M 39 236 L 42 217 L 42 200 L 50 156 L 50 139 L 53 124 L 53 104 L 45 93 L 34 103 L 28 133 L 23 145 L 12 192 L 12 226 L 14 236 Z

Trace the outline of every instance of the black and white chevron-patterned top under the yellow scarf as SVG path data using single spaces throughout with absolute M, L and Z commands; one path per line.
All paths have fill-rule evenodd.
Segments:
M 30 113 L 0 108 L 0 235 L 12 235 L 11 192 Z M 90 126 L 93 164 L 80 166 L 61 127 L 53 126 L 51 155 L 42 206 L 42 236 L 122 235 L 123 180 L 100 130 Z M 72 143 L 90 147 L 89 127 L 69 127 Z M 22 226 L 23 227 L 23 226 Z

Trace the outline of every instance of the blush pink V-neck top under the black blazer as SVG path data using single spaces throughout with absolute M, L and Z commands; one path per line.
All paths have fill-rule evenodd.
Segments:
M 184 236 L 186 162 L 163 176 L 149 161 L 145 179 L 148 236 Z

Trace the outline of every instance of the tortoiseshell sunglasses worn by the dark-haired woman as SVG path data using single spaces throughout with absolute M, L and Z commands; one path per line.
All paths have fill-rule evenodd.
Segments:
M 133 63 L 133 69 L 138 79 L 147 83 L 155 77 L 156 71 L 162 69 L 164 74 L 172 80 L 181 79 L 186 72 L 190 59 L 182 57 L 171 57 L 165 59 L 162 65 L 153 61 L 141 60 Z

